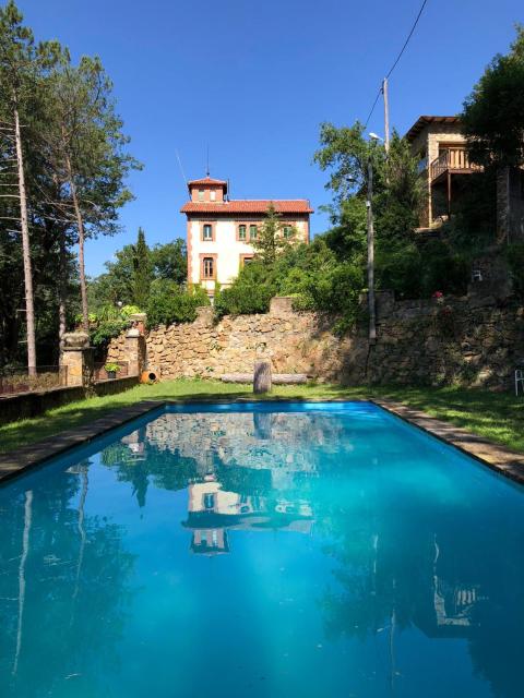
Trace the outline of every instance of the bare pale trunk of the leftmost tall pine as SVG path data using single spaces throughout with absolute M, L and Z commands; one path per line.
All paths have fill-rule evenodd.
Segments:
M 29 228 L 27 225 L 27 200 L 25 196 L 24 155 L 20 134 L 19 109 L 14 108 L 14 137 L 19 169 L 20 219 L 22 227 L 22 251 L 24 257 L 25 320 L 27 326 L 27 371 L 36 375 L 35 308 L 33 303 L 33 273 L 31 268 Z

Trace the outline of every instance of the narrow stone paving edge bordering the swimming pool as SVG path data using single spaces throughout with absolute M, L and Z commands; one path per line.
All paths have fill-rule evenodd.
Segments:
M 94 420 L 83 426 L 71 429 L 55 436 L 49 436 L 35 444 L 22 446 L 14 452 L 0 455 L 0 481 L 13 478 L 28 468 L 38 466 L 50 458 L 59 456 L 71 448 L 90 443 L 97 436 L 106 434 L 112 429 L 122 426 L 139 417 L 143 417 L 152 410 L 165 405 L 194 405 L 195 402 L 233 405 L 235 402 L 252 402 L 255 398 L 246 396 L 242 398 L 201 398 L 180 400 L 142 400 L 135 405 L 108 412 L 104 417 Z M 429 417 L 426 412 L 415 410 L 406 405 L 390 399 L 347 400 L 344 398 L 332 399 L 288 399 L 269 398 L 264 402 L 355 402 L 369 401 L 404 421 L 436 436 L 440 441 L 462 450 L 464 454 L 479 460 L 492 470 L 524 484 L 524 454 L 519 454 L 504 446 L 493 444 L 481 436 L 477 436 L 449 422 Z

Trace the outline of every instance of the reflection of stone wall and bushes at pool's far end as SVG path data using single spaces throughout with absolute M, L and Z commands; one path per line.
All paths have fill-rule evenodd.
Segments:
M 298 496 L 311 476 L 330 467 L 325 453 L 343 455 L 341 443 L 352 450 L 340 438 L 346 429 L 344 421 L 323 414 L 167 413 L 107 446 L 102 462 L 132 485 L 141 507 L 150 483 L 181 490 L 210 474 L 224 490 L 270 495 L 281 472 L 288 478 L 278 489 L 295 489 Z

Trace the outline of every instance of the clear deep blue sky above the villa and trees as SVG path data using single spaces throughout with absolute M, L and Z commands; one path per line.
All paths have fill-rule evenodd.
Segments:
M 90 241 L 103 270 L 142 226 L 150 244 L 184 237 L 188 178 L 229 179 L 235 198 L 329 203 L 311 164 L 319 124 L 365 120 L 421 0 L 19 0 L 38 39 L 100 56 L 115 83 L 130 149 L 144 164 L 121 213 L 124 231 Z M 524 22 L 522 0 L 429 0 L 390 81 L 401 133 L 422 113 L 453 115 L 486 63 Z M 383 132 L 379 104 L 369 130 Z M 311 230 L 322 232 L 322 213 Z

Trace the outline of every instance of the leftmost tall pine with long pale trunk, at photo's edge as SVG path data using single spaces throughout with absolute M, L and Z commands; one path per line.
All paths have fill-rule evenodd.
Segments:
M 37 65 L 33 33 L 22 25 L 22 15 L 14 2 L 10 0 L 4 8 L 0 8 L 0 84 L 4 92 L 4 99 L 1 101 L 2 131 L 5 137 L 12 136 L 14 141 L 12 159 L 16 163 L 29 374 L 36 373 L 36 334 L 21 116 L 24 120 L 25 117 L 29 118 L 27 101 L 32 84 L 36 79 Z M 4 159 L 8 169 L 10 159 L 9 157 Z M 2 196 L 12 197 L 14 194 L 2 194 Z

